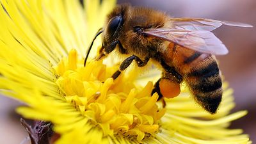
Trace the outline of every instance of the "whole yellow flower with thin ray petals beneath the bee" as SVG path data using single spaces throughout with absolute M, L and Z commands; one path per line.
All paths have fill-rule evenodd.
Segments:
M 77 0 L 1 4 L 0 92 L 26 104 L 17 108 L 22 116 L 54 124 L 56 143 L 251 143 L 241 129 L 227 128 L 247 113 L 229 114 L 235 104 L 227 83 L 218 113 L 210 115 L 186 84 L 161 108 L 150 95 L 156 70 L 140 76 L 131 68 L 113 81 L 118 65 L 89 60 L 83 67 L 85 48 L 115 1 L 88 0 L 84 8 Z

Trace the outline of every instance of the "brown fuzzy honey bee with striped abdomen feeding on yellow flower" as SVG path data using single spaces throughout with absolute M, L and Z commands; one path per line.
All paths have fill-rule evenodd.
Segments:
M 113 79 L 129 67 L 133 60 L 138 67 L 144 67 L 150 59 L 156 61 L 163 67 L 163 74 L 154 85 L 152 94 L 157 93 L 159 99 L 175 97 L 179 95 L 180 83 L 184 81 L 195 101 L 214 114 L 223 92 L 214 55 L 227 54 L 228 50 L 211 31 L 221 25 L 252 27 L 239 22 L 172 18 L 150 8 L 119 5 L 109 13 L 104 28 L 95 36 L 102 33 L 102 47 L 97 60 L 114 49 L 120 54 L 131 55 L 121 63 Z

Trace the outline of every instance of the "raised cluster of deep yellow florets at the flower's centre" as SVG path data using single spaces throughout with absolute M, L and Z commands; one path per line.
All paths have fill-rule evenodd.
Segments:
M 55 67 L 56 83 L 65 99 L 105 136 L 120 135 L 140 141 L 159 131 L 159 119 L 165 109 L 159 109 L 158 95 L 150 95 L 153 84 L 144 88 L 134 83 L 129 74 L 115 81 L 111 75 L 118 66 L 106 67 L 102 61 L 90 61 L 83 67 L 76 50 L 70 51 Z M 134 73 L 133 73 L 134 74 Z

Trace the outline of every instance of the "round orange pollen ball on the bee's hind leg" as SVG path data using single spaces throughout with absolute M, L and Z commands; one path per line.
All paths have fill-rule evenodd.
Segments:
M 173 98 L 180 94 L 180 84 L 169 79 L 161 79 L 159 87 L 163 97 Z

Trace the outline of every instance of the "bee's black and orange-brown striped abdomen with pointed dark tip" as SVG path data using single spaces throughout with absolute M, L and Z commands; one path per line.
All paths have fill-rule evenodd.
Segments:
M 181 63 L 180 63 L 181 64 Z M 183 76 L 196 102 L 210 113 L 216 113 L 222 97 L 220 70 L 211 54 L 192 52 L 184 57 Z

